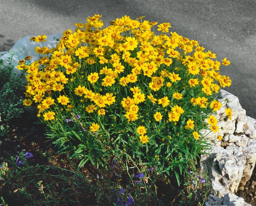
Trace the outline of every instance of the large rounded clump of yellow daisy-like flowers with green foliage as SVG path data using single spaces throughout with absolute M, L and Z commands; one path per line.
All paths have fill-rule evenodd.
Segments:
M 207 148 L 200 130 L 218 130 L 209 115 L 220 109 L 217 93 L 231 80 L 197 41 L 167 35 L 170 23 L 123 16 L 102 28 L 100 17 L 64 31 L 53 49 L 43 45 L 45 35 L 31 38 L 41 58 L 18 65 L 27 72 L 23 103 L 37 104 L 47 135 L 80 159 L 79 167 L 88 160 L 106 165 L 116 155 L 178 177 L 175 168 L 182 172 Z

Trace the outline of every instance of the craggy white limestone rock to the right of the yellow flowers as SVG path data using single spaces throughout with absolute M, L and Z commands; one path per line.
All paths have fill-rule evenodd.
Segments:
M 219 128 L 217 133 L 210 133 L 207 138 L 212 142 L 209 155 L 201 155 L 201 168 L 208 172 L 215 192 L 223 200 L 209 201 L 205 206 L 249 206 L 243 198 L 235 194 L 239 185 L 245 185 L 252 175 L 256 162 L 256 120 L 246 116 L 236 96 L 220 90 L 218 101 L 225 102 L 215 114 Z M 231 108 L 232 119 L 227 119 L 225 109 Z M 218 141 L 217 136 L 223 139 Z

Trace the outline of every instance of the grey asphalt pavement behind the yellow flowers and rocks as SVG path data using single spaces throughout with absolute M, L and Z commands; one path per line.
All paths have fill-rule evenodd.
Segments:
M 172 32 L 198 41 L 217 60 L 227 57 L 231 65 L 221 73 L 233 83 L 225 90 L 256 118 L 255 0 L 0 0 L 0 52 L 27 35 L 73 30 L 94 14 L 103 15 L 105 26 L 124 15 L 170 22 Z

